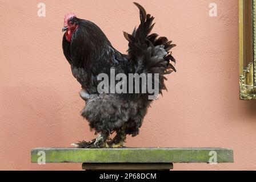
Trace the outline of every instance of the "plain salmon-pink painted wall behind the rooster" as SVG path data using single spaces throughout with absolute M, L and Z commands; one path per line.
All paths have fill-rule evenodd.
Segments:
M 46 4 L 46 17 L 37 4 Z M 64 14 L 97 23 L 122 52 L 122 31 L 138 25 L 133 1 L 0 0 L 0 169 L 81 169 L 30 163 L 34 147 L 69 147 L 94 137 L 79 115 L 80 86 L 62 53 Z M 177 73 L 150 108 L 129 147 L 227 147 L 234 164 L 175 164 L 175 169 L 256 169 L 256 101 L 238 100 L 238 2 L 138 1 L 155 16 L 154 31 L 178 45 Z M 217 18 L 209 4 L 218 5 Z

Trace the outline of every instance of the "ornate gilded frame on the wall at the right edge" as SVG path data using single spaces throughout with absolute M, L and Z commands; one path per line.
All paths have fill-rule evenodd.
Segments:
M 255 15 L 256 0 L 239 0 L 239 86 L 241 100 L 256 100 Z M 249 32 L 250 29 L 251 32 Z

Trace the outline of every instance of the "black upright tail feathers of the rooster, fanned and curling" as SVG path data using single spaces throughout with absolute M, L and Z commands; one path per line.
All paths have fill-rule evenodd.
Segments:
M 139 9 L 141 23 L 138 28 L 134 28 L 132 34 L 123 32 L 126 40 L 129 42 L 128 57 L 135 67 L 136 73 L 158 73 L 159 74 L 159 93 L 166 89 L 163 75 L 176 72 L 174 66 L 170 63 L 176 63 L 171 55 L 170 49 L 175 47 L 172 41 L 158 34 L 150 34 L 155 23 L 154 17 L 146 13 L 146 10 L 134 2 Z

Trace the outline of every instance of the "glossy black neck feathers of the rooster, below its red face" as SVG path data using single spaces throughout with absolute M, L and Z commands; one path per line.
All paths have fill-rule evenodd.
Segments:
M 106 59 L 114 61 L 119 52 L 112 46 L 106 35 L 93 22 L 75 17 L 78 24 L 70 43 L 63 40 L 63 49 L 69 63 L 78 68 L 96 69 L 95 64 L 104 63 Z M 69 47 L 69 48 L 68 48 Z

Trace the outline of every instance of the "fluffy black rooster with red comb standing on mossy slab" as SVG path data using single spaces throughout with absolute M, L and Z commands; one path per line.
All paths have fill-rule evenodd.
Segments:
M 62 29 L 65 31 L 63 52 L 71 65 L 73 76 L 82 85 L 80 96 L 86 101 L 82 116 L 98 134 L 91 142 L 77 143 L 78 147 L 124 147 L 127 134 L 133 137 L 138 135 L 147 108 L 152 102 L 149 96 L 153 93 L 148 90 L 143 93 L 141 83 L 137 93 L 99 93 L 99 74 L 106 73 L 110 76 L 110 69 L 114 69 L 115 75 L 157 73 L 158 85 L 154 84 L 155 77 L 150 84 L 158 86 L 158 93 L 162 93 L 161 91 L 166 89 L 164 75 L 175 71 L 170 64 L 170 61 L 175 63 L 175 59 L 169 52 L 175 44 L 171 44 L 165 37 L 158 38 L 157 34 L 150 34 L 154 17 L 146 14 L 145 9 L 138 3 L 134 4 L 139 9 L 141 23 L 131 35 L 124 32 L 129 41 L 127 55 L 111 46 L 106 35 L 93 22 L 79 19 L 75 14 L 65 16 Z M 117 133 L 115 137 L 109 138 L 114 132 Z

